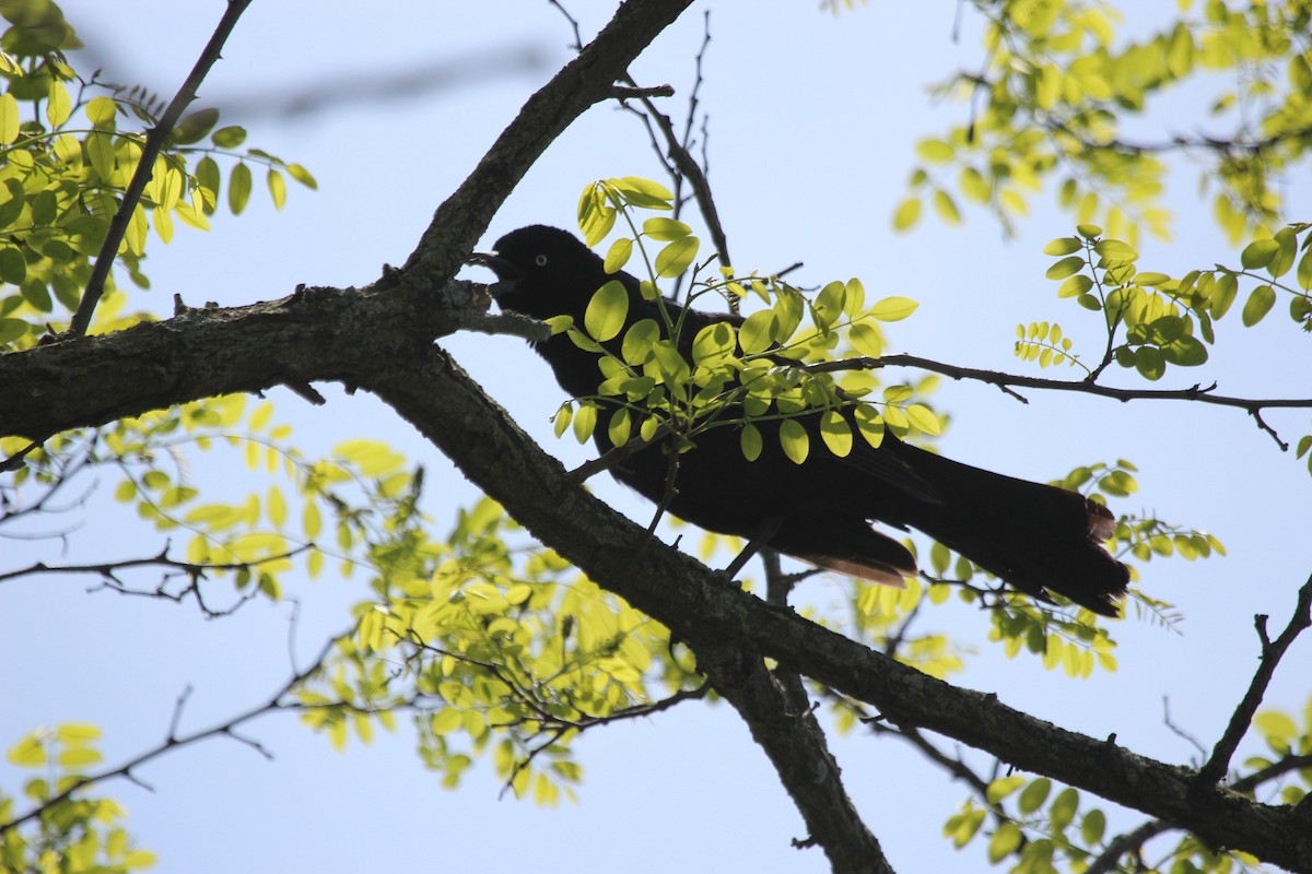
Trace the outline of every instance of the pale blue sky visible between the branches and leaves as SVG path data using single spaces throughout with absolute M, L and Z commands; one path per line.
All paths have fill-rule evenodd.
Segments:
M 75 58 L 83 72 L 140 81 L 173 93 L 222 14 L 219 0 L 100 0 L 64 3 L 88 43 Z M 567 4 L 590 38 L 611 5 Z M 1035 199 L 1019 237 L 1005 240 L 987 215 L 966 211 L 949 229 L 933 219 L 911 235 L 891 215 L 914 164 L 914 142 L 946 130 L 964 109 L 938 104 L 925 86 L 958 68 L 977 68 L 975 24 L 951 4 L 871 4 L 841 16 L 812 3 L 698 4 L 663 34 L 632 72 L 642 84 L 672 84 L 670 114 L 681 117 L 711 10 L 702 106 L 710 115 L 710 178 L 729 236 L 735 266 L 806 267 L 802 284 L 859 276 L 867 295 L 920 301 L 913 318 L 890 332 L 891 351 L 972 367 L 1023 372 L 1012 355 L 1017 322 L 1061 322 L 1086 358 L 1096 359 L 1097 316 L 1057 300 L 1043 278 L 1043 244 L 1071 233 L 1072 219 Z M 916 12 L 909 12 L 914 9 Z M 1139 4 L 1130 31 L 1151 26 L 1174 3 Z M 138 307 L 160 314 L 172 295 L 240 305 L 281 297 L 298 283 L 352 286 L 401 263 L 437 204 L 468 174 L 530 93 L 571 58 L 572 34 L 547 3 L 484 0 L 428 4 L 375 0 L 367 5 L 257 0 L 239 22 L 223 60 L 201 90 L 224 122 L 249 130 L 248 145 L 306 165 L 320 190 L 293 186 L 276 212 L 257 173 L 247 214 L 215 216 L 210 233 L 181 228 L 168 246 L 152 240 L 146 273 L 152 291 Z M 416 72 L 420 75 L 416 76 Z M 405 77 L 441 86 L 358 93 L 362 83 Z M 300 111 L 285 96 L 324 90 L 328 102 Z M 1185 94 L 1166 106 L 1155 131 L 1199 127 Z M 1147 128 L 1145 128 L 1147 130 Z M 600 105 L 558 139 L 505 203 L 483 241 L 530 223 L 572 227 L 579 194 L 611 176 L 661 178 L 647 135 L 630 115 Z M 1286 191 L 1291 219 L 1307 219 L 1309 185 Z M 1172 177 L 1168 206 L 1174 241 L 1143 240 L 1141 269 L 1183 273 L 1221 254 L 1235 263 L 1197 195 L 1187 164 Z M 703 237 L 705 238 L 705 237 Z M 485 280 L 470 270 L 471 279 Z M 1291 362 L 1305 360 L 1305 337 L 1283 316 L 1284 303 L 1252 330 L 1233 316 L 1223 346 L 1198 372 L 1170 371 L 1162 388 L 1208 384 L 1236 396 L 1307 397 L 1312 380 L 1294 381 Z M 589 452 L 551 436 L 548 417 L 563 400 L 550 372 L 510 337 L 470 334 L 442 345 L 489 394 L 567 465 Z M 1305 375 L 1308 368 L 1303 367 Z M 1271 373 L 1283 373 L 1273 379 Z M 1052 373 L 1061 375 L 1061 373 Z M 893 377 L 890 376 L 892 380 Z M 1120 372 L 1115 384 L 1135 384 Z M 311 408 L 270 394 L 307 453 L 350 436 L 386 439 L 429 472 L 426 510 L 437 532 L 476 491 L 432 446 L 370 397 L 320 387 L 329 402 Z M 1118 511 L 1156 512 L 1210 531 L 1228 558 L 1155 561 L 1144 587 L 1177 604 L 1176 629 L 1131 617 L 1114 636 L 1120 670 L 1072 681 L 1039 660 L 1006 660 L 987 641 L 987 617 L 964 607 L 935 611 L 926 622 L 968 647 L 970 667 L 955 681 L 997 692 L 1012 706 L 1170 763 L 1198 751 L 1164 725 L 1210 746 L 1257 664 L 1254 613 L 1282 629 L 1304 558 L 1312 482 L 1292 453 L 1242 414 L 1200 405 L 1106 400 L 1029 392 L 1029 405 L 997 389 L 945 384 L 934 397 L 953 422 L 942 451 L 958 460 L 1048 480 L 1078 464 L 1132 460 L 1140 491 Z M 1270 414 L 1286 440 L 1307 432 L 1307 415 Z M 240 457 L 188 459 L 198 482 L 222 487 Z M 108 486 L 106 486 L 108 484 Z M 245 482 L 237 484 L 245 489 Z M 605 499 L 646 519 L 649 510 L 604 477 Z M 0 569 L 46 561 L 146 556 L 159 535 L 109 499 L 113 482 L 93 493 L 67 553 L 58 544 L 0 541 Z M 262 485 L 261 485 L 262 489 Z M 193 693 L 182 715 L 194 730 L 262 702 L 289 674 L 287 603 L 248 605 L 223 621 L 168 603 L 87 594 L 89 580 L 31 578 L 0 591 L 0 744 L 38 725 L 93 722 L 105 730 L 106 764 L 117 764 L 164 736 L 174 701 Z M 325 574 L 293 580 L 300 603 L 290 649 L 299 663 L 325 636 L 348 625 L 359 583 Z M 795 600 L 834 603 L 842 582 L 808 580 Z M 1269 702 L 1302 710 L 1312 645 L 1302 641 L 1277 675 Z M 413 752 L 400 719 L 396 735 L 370 747 L 353 740 L 345 755 L 304 730 L 295 715 L 266 717 L 247 729 L 276 759 L 226 740 L 177 751 L 139 777 L 154 793 L 118 781 L 98 791 L 129 811 L 127 827 L 159 856 L 157 871 L 450 871 L 531 864 L 579 871 L 828 870 L 820 850 L 796 850 L 800 818 L 761 752 L 727 706 L 690 704 L 651 719 L 593 731 L 579 744 L 585 767 L 580 803 L 541 810 L 500 798 L 491 768 L 476 765 L 458 791 L 443 790 Z M 951 748 L 951 743 L 943 742 Z M 833 739 L 848 789 L 897 870 L 977 870 L 981 848 L 955 853 L 942 823 L 967 794 L 896 740 L 863 734 Z M 1250 742 L 1245 751 L 1258 751 Z M 1240 756 L 1240 760 L 1242 755 Z M 29 774 L 0 763 L 0 786 L 16 794 Z M 1088 799 L 1093 803 L 1092 799 Z M 1113 819 L 1135 824 L 1139 818 Z

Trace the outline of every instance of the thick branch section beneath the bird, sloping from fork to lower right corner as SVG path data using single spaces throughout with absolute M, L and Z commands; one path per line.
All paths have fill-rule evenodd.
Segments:
M 1295 827 L 1292 808 L 1258 805 L 1223 788 L 1191 793 L 1189 769 L 1034 719 L 996 696 L 928 677 L 724 586 L 674 550 L 648 544 L 635 558 L 646 532 L 576 487 L 560 464 L 529 442 L 441 350 L 400 366 L 380 363 L 361 385 L 411 421 L 543 542 L 694 649 L 732 643 L 758 651 L 871 704 L 895 725 L 949 735 L 1017 768 L 1168 819 L 1212 845 L 1312 871 L 1312 835 Z

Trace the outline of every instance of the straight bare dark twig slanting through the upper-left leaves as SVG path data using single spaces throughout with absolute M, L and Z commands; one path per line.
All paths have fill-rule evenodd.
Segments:
M 201 83 L 210 73 L 210 67 L 215 64 L 223 51 L 223 43 L 227 42 L 232 28 L 237 24 L 237 18 L 241 17 L 241 13 L 249 5 L 251 0 L 228 0 L 227 8 L 223 10 L 223 17 L 219 18 L 210 42 L 201 51 L 201 56 L 195 59 L 195 66 L 192 68 L 190 75 L 188 75 L 186 81 L 182 83 L 182 86 L 164 110 L 164 114 L 160 115 L 159 123 L 146 134 L 146 143 L 142 145 L 142 157 L 136 164 L 136 170 L 133 173 L 131 181 L 127 183 L 127 190 L 123 191 L 123 200 L 118 204 L 118 211 L 114 212 L 114 218 L 109 223 L 109 231 L 100 246 L 100 254 L 96 256 L 91 279 L 87 280 L 87 288 L 77 303 L 77 312 L 73 313 L 64 337 L 81 337 L 87 333 L 92 313 L 96 312 L 96 304 L 100 303 L 101 295 L 105 294 L 105 280 L 109 278 L 109 269 L 118 254 L 118 245 L 123 241 L 123 235 L 127 233 L 127 225 L 133 219 L 136 204 L 142 199 L 146 183 L 155 174 L 155 159 L 159 156 L 160 149 L 164 148 L 164 140 L 168 139 L 173 126 L 182 117 L 182 111 L 195 100 L 195 92 L 201 88 Z

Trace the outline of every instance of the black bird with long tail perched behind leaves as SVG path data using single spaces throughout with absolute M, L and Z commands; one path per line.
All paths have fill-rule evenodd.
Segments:
M 636 278 L 607 274 L 601 257 L 558 228 L 513 231 L 497 241 L 495 253 L 475 254 L 471 263 L 496 273 L 492 295 L 504 311 L 541 320 L 568 314 L 581 326 L 597 290 L 619 279 L 628 292 L 627 322 L 664 324 L 656 301 L 643 299 Z M 702 328 L 741 324 L 728 314 L 685 313 L 669 300 L 666 308 L 674 321 L 684 316 L 685 358 Z M 605 346 L 614 346 L 618 355 L 623 335 L 622 330 Z M 602 373 L 596 352 L 563 333 L 534 347 L 565 392 L 597 394 Z M 613 444 L 605 398 L 601 404 L 594 442 L 606 452 Z M 916 562 L 901 544 L 871 528 L 878 520 L 917 528 L 1033 596 L 1046 600 L 1051 590 L 1096 613 L 1118 615 L 1113 599 L 1124 594 L 1128 573 L 1102 548 L 1115 519 L 1101 504 L 1075 491 L 951 461 L 888 432 L 879 448 L 858 436 L 851 452 L 838 457 L 820 446 L 819 414 L 799 421 L 816 447 L 800 465 L 783 455 L 777 423 L 758 421 L 765 446 L 754 461 L 743 456 L 733 427 L 698 434 L 695 447 L 678 456 L 672 498 L 669 438 L 610 470 L 649 501 L 669 501 L 669 511 L 681 519 L 749 539 L 744 561 L 764 545 L 820 567 L 901 586 L 904 577 L 914 575 Z

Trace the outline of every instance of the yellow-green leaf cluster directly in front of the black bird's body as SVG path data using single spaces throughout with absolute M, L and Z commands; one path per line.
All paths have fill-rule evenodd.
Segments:
M 567 402 L 556 414 L 558 435 L 572 426 L 580 442 L 589 439 L 602 411 L 609 414 L 607 438 L 615 446 L 673 434 L 686 451 L 698 435 L 732 427 L 744 456 L 756 460 L 765 443 L 762 425 L 771 423 L 783 453 L 802 464 L 811 451 L 802 417 L 817 419 L 821 442 L 837 456 L 851 451 L 854 432 L 878 447 L 886 427 L 899 436 L 941 431 L 938 417 L 913 398 L 909 387 L 887 388 L 882 400 L 874 400 L 869 375 L 840 381 L 808 367 L 834 360 L 838 349 L 878 356 L 879 324 L 905 318 L 914 301 L 886 297 L 867 305 L 857 279 L 830 282 L 807 296 L 778 276 L 740 275 L 728 266 L 708 275 L 711 259 L 694 265 L 699 244 L 686 224 L 651 218 L 639 229 L 635 211 L 672 208 L 673 195 L 648 180 L 607 180 L 584 191 L 579 225 L 585 240 L 598 242 L 617 219 L 626 220 L 632 236 L 610 245 L 606 270 L 619 271 L 638 256 L 648 276 L 642 296 L 655 304 L 656 317 L 631 320 L 628 294 L 611 280 L 593 295 L 583 325 L 569 317 L 554 320 L 558 333 L 598 355 L 601 377 L 596 396 Z M 655 257 L 647 253 L 651 241 L 664 244 Z M 690 267 L 687 305 L 714 295 L 757 300 L 761 308 L 708 325 L 690 320 L 659 288 L 661 279 Z

